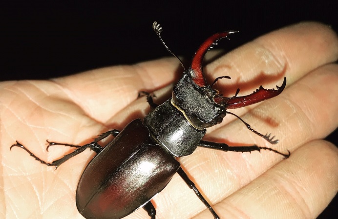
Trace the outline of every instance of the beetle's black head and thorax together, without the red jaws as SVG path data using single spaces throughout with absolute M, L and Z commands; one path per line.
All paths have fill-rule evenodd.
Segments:
M 212 101 L 215 91 L 199 87 L 186 72 L 173 89 L 172 98 L 144 119 L 152 138 L 173 156 L 190 155 L 207 127 L 222 122 L 225 110 Z

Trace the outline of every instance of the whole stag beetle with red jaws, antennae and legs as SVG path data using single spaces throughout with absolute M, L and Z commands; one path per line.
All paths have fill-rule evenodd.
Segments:
M 174 55 L 162 40 L 160 36 L 162 27 L 157 22 L 153 23 L 153 30 L 169 53 Z M 184 179 L 213 217 L 219 219 L 175 157 L 190 155 L 197 146 L 235 152 L 264 149 L 285 158 L 290 156 L 290 152 L 283 154 L 268 147 L 229 146 L 225 143 L 202 140 L 206 128 L 221 123 L 226 114 L 236 116 L 227 109 L 240 108 L 273 98 L 279 95 L 286 85 L 284 78 L 283 84 L 280 87 L 276 86 L 276 90 L 267 90 L 260 86 L 252 94 L 242 97 L 237 97 L 237 90 L 236 95 L 231 98 L 223 97 L 212 89 L 212 85 L 206 83 L 203 75 L 203 57 L 218 40 L 227 38 L 233 33 L 235 32 L 217 33 L 202 43 L 192 58 L 190 68 L 184 71 L 183 77 L 174 86 L 172 97 L 163 104 L 157 105 L 153 102 L 152 95 L 141 93 L 147 96 L 147 101 L 153 108 L 143 121 L 135 119 L 122 131 L 116 129 L 108 131 L 83 146 L 47 140 L 47 150 L 51 145 L 77 147 L 72 153 L 52 163 L 39 159 L 18 141 L 11 149 L 14 146 L 21 147 L 36 160 L 56 168 L 88 147 L 95 151 L 97 155 L 84 169 L 76 191 L 76 206 L 86 219 L 121 219 L 140 207 L 148 212 L 151 219 L 155 219 L 156 210 L 150 200 L 163 190 L 175 173 Z M 181 60 L 180 62 L 182 64 Z M 221 78 L 230 79 L 223 76 L 217 78 L 214 83 Z M 249 130 L 268 142 L 272 144 L 278 142 L 273 140 L 275 136 L 270 138 L 270 134 L 262 135 L 253 130 L 248 123 L 240 120 Z M 115 138 L 105 147 L 98 144 L 98 141 L 109 135 Z

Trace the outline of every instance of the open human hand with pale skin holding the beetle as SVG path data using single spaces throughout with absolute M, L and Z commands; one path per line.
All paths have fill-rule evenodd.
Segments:
M 233 88 L 232 95 L 237 87 L 244 95 L 260 85 L 280 85 L 284 74 L 287 78 L 279 96 L 232 112 L 255 130 L 276 135 L 279 143 L 273 147 L 290 150 L 289 159 L 269 151 L 206 148 L 178 159 L 222 219 L 316 218 L 337 193 L 338 150 L 320 140 L 338 126 L 338 66 L 332 64 L 337 59 L 338 39 L 331 29 L 300 23 L 253 40 L 206 67 L 210 79 L 232 77 L 218 83 L 218 88 Z M 136 100 L 138 92 L 165 87 L 178 68 L 177 60 L 167 58 L 53 80 L 1 82 L 0 215 L 83 218 L 75 192 L 94 152 L 86 150 L 54 171 L 9 147 L 18 140 L 39 158 L 52 161 L 73 149 L 54 146 L 46 152 L 46 139 L 84 144 L 108 129 L 121 130 L 149 108 L 145 99 Z M 231 115 L 210 128 L 205 139 L 271 147 Z M 157 219 L 212 218 L 177 174 L 153 203 Z M 126 218 L 148 215 L 140 209 Z

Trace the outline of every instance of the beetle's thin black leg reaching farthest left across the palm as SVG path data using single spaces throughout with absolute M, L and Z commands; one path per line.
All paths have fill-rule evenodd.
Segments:
M 87 149 L 87 147 L 90 147 L 91 149 L 93 149 L 96 153 L 99 153 L 100 151 L 102 151 L 101 146 L 97 143 L 97 142 L 91 142 L 89 144 L 85 144 L 84 146 L 74 150 L 72 153 L 67 154 L 65 156 L 63 156 L 63 158 L 61 159 L 57 159 L 54 160 L 51 163 L 47 163 L 45 161 L 43 161 L 42 159 L 38 158 L 37 156 L 35 156 L 32 152 L 30 152 L 25 146 L 23 146 L 19 141 L 17 141 L 16 144 L 13 144 L 10 147 L 10 150 L 12 150 L 13 147 L 21 147 L 23 150 L 27 151 L 30 156 L 32 156 L 33 158 L 35 158 L 36 160 L 38 160 L 39 162 L 41 162 L 42 164 L 45 164 L 47 166 L 55 166 L 55 169 L 57 169 L 63 162 L 67 161 L 68 159 L 71 159 L 72 157 L 80 154 L 81 152 L 83 152 L 85 149 Z

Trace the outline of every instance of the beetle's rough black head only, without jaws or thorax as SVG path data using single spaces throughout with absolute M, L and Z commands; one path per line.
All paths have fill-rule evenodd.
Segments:
M 222 122 L 226 115 L 224 107 L 216 104 L 216 91 L 210 86 L 200 87 L 185 73 L 172 92 L 171 104 L 183 113 L 196 129 L 205 129 Z

